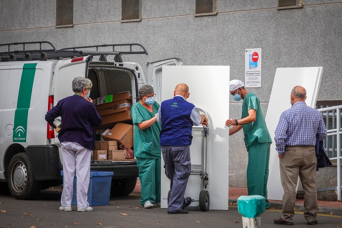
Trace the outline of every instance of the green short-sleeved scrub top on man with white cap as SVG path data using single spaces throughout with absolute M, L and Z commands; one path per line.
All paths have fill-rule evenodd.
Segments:
M 241 119 L 248 116 L 249 109 L 254 109 L 257 111 L 257 116 L 254 122 L 242 125 L 247 151 L 249 151 L 249 148 L 257 138 L 259 143 L 272 143 L 271 136 L 269 135 L 266 126 L 264 113 L 260 106 L 260 100 L 254 93 L 250 92 L 248 92 L 244 98 Z

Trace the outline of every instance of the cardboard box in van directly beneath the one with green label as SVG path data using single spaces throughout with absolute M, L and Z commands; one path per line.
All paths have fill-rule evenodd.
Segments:
M 132 100 L 118 100 L 115 102 L 97 105 L 96 110 L 100 116 L 105 116 L 117 112 L 131 110 L 132 106 Z

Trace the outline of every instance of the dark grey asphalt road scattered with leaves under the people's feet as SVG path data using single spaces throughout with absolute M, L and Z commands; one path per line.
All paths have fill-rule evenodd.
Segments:
M 92 212 L 59 211 L 62 190 L 58 188 L 42 190 L 35 200 L 15 200 L 4 183 L 0 183 L 0 227 L 4 228 L 241 228 L 242 219 L 236 205 L 229 205 L 228 211 L 190 211 L 185 215 L 169 215 L 167 209 L 154 207 L 144 209 L 140 204 L 140 192 L 132 192 L 125 197 L 110 197 L 109 205 L 93 206 Z M 273 224 L 281 216 L 279 209 L 266 210 L 262 214 L 262 227 L 279 228 Z M 319 228 L 342 228 L 342 216 L 319 214 Z M 308 227 L 302 212 L 294 216 L 295 227 Z M 280 228 L 283 226 L 280 226 Z

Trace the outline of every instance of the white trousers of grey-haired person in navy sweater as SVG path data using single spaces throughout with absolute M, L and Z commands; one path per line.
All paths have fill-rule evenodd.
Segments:
M 89 207 L 87 192 L 90 179 L 91 150 L 73 142 L 63 142 L 61 148 L 64 178 L 61 204 L 62 206 L 71 206 L 76 171 L 77 207 Z

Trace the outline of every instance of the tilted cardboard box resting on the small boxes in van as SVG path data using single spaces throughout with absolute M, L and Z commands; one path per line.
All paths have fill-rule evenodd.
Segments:
M 125 147 L 133 146 L 133 125 L 126 123 L 117 123 L 112 129 L 107 129 L 102 134 L 104 140 L 117 140 L 118 145 L 123 144 Z

